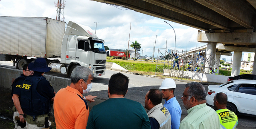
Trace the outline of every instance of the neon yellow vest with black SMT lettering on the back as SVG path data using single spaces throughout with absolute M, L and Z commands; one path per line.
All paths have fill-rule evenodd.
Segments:
M 223 129 L 236 129 L 238 120 L 234 112 L 231 112 L 229 109 L 219 109 L 216 112 L 219 116 L 220 124 Z

